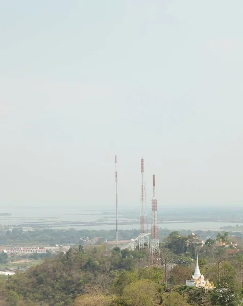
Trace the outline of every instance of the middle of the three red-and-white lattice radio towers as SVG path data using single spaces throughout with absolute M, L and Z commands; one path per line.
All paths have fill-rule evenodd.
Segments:
M 140 235 L 139 235 L 139 249 L 149 248 L 149 234 L 148 234 L 148 216 L 147 216 L 147 199 L 146 199 L 146 185 L 143 181 L 143 158 L 141 158 L 141 197 L 140 197 Z

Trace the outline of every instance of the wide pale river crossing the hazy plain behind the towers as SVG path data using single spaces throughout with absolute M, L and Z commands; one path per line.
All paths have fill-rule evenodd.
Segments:
M 1 213 L 11 213 L 11 216 L 0 216 L 0 224 L 28 224 L 33 222 L 41 227 L 49 228 L 76 228 L 82 230 L 113 230 L 115 228 L 114 214 L 103 214 L 103 211 L 88 211 L 81 208 L 5 208 L 0 211 Z M 119 228 L 122 230 L 131 230 L 132 228 L 139 229 L 138 219 L 134 219 L 134 215 L 131 218 L 123 218 L 120 215 L 120 222 L 128 224 L 119 224 Z M 85 226 L 79 226 L 78 224 L 65 224 L 65 222 L 86 222 Z M 92 222 L 92 225 L 88 225 L 87 222 Z M 99 224 L 94 225 L 93 222 Z M 102 224 L 101 224 L 102 222 Z M 113 223 L 113 224 L 107 224 Z M 46 226 L 48 225 L 48 226 Z M 235 226 L 236 223 L 232 222 L 173 222 L 165 221 L 159 223 L 160 228 L 167 228 L 168 230 L 202 230 L 202 231 L 219 231 L 223 226 Z M 238 223 L 238 225 L 242 225 Z M 150 225 L 149 225 L 150 227 Z

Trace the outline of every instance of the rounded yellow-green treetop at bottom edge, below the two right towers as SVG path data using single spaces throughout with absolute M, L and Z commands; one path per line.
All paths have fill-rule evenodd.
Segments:
M 149 279 L 141 279 L 125 287 L 123 298 L 128 306 L 153 306 L 158 301 L 158 286 Z

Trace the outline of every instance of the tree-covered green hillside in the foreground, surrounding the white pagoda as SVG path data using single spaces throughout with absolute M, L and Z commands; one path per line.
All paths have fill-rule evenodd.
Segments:
M 218 236 L 201 248 L 194 238 L 171 233 L 160 245 L 162 265 L 154 266 L 147 251 L 114 248 L 105 253 L 105 245 L 80 245 L 1 278 L 0 306 L 236 306 L 243 257 L 229 258 L 227 248 L 219 245 L 222 239 L 229 238 Z M 210 292 L 184 286 L 195 269 L 192 254 L 197 247 L 201 273 L 215 285 Z

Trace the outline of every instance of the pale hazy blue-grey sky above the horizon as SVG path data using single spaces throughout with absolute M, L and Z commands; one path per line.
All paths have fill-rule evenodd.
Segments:
M 238 205 L 243 3 L 0 4 L 2 206 Z M 149 204 L 150 205 L 150 204 Z M 1 211 L 1 209 L 0 209 Z

